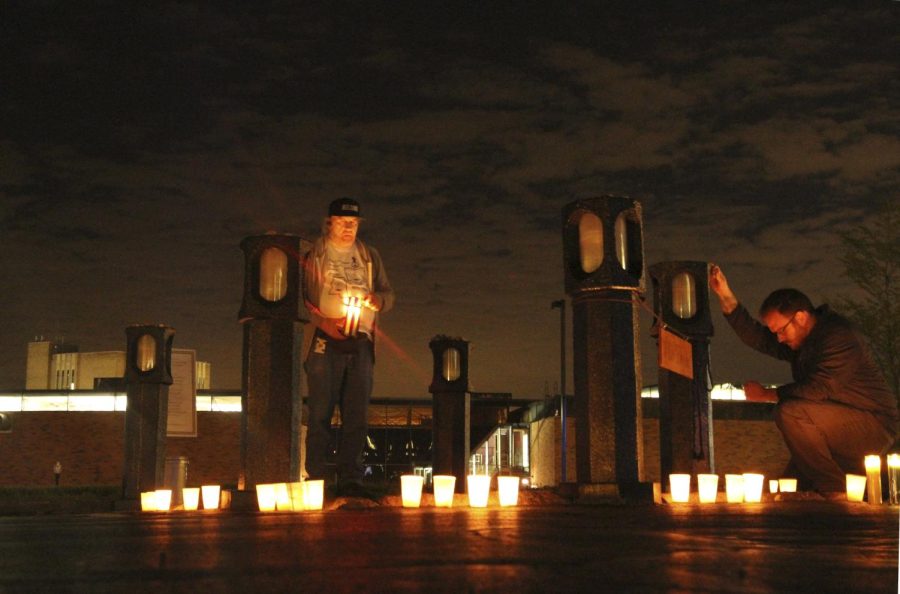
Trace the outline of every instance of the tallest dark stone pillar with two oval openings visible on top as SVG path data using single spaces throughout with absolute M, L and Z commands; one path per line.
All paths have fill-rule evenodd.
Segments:
M 563 208 L 572 299 L 579 493 L 642 496 L 638 306 L 644 292 L 641 205 L 602 196 Z

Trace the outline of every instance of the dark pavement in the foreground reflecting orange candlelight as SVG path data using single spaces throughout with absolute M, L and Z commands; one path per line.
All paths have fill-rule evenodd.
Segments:
M 0 592 L 897 592 L 898 508 L 551 505 L 0 518 Z

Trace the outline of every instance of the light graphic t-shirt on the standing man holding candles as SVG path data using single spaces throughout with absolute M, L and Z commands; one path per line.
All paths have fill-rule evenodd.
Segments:
M 329 318 L 343 318 L 347 314 L 344 297 L 362 299 L 371 291 L 365 262 L 356 244 L 340 249 L 328 242 L 325 246 L 324 283 L 319 296 L 319 309 Z M 363 307 L 359 316 L 359 331 L 372 335 L 375 312 Z

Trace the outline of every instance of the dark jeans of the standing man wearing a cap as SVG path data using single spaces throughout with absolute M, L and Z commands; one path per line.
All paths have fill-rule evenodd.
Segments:
M 324 345 L 324 346 L 323 346 Z M 341 407 L 337 471 L 341 482 L 363 477 L 363 451 L 369 433 L 374 349 L 368 338 L 334 340 L 317 331 L 304 367 L 309 398 L 306 434 L 306 472 L 325 479 L 331 447 L 331 418 Z

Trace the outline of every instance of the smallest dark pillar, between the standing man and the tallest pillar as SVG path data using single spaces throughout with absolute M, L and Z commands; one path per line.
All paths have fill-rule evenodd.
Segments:
M 457 493 L 465 493 L 471 444 L 469 342 L 435 336 L 428 343 L 434 360 L 431 392 L 432 471 L 456 477 Z

